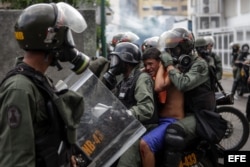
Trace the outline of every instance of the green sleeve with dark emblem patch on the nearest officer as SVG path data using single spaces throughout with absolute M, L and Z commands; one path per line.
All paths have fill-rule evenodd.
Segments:
M 34 167 L 35 148 L 31 116 L 32 97 L 24 90 L 1 92 L 0 166 Z

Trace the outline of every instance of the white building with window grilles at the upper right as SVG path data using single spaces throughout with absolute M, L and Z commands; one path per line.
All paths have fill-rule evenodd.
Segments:
M 250 44 L 250 1 L 189 0 L 188 7 L 194 34 L 212 35 L 224 71 L 231 70 L 230 44 Z

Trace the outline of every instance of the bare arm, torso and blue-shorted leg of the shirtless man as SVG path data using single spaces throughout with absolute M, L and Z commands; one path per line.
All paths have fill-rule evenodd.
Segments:
M 167 100 L 159 109 L 159 125 L 140 141 L 143 167 L 155 166 L 155 154 L 164 149 L 164 135 L 168 125 L 184 117 L 184 97 L 170 81 L 162 64 L 156 74 L 155 91 L 167 91 Z

